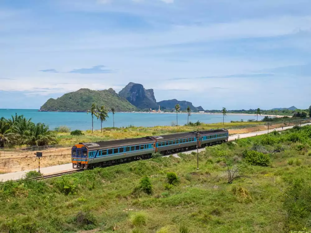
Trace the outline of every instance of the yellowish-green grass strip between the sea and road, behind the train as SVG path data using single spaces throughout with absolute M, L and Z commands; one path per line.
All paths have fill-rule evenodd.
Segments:
M 136 127 L 129 126 L 124 128 L 104 128 L 101 133 L 100 130 L 83 131 L 84 135 L 73 136 L 70 133 L 58 133 L 57 138 L 59 144 L 75 144 L 82 141 L 99 141 L 109 139 L 124 139 L 124 138 L 135 138 L 145 137 L 150 135 L 164 135 L 171 133 L 179 133 L 186 131 L 195 130 L 210 130 L 210 129 L 243 129 L 248 127 L 263 126 L 264 122 L 234 122 L 234 123 L 215 123 L 215 124 L 200 124 L 198 126 L 155 126 L 155 127 Z

